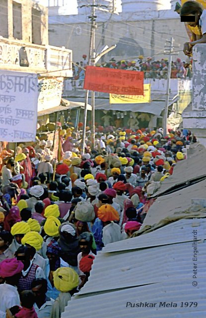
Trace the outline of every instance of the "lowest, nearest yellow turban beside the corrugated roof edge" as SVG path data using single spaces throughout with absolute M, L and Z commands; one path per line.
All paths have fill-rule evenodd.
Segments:
M 79 277 L 73 268 L 60 267 L 54 272 L 54 286 L 57 290 L 67 293 L 78 286 Z

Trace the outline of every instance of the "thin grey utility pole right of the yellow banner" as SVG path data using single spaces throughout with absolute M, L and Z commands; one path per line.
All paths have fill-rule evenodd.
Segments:
M 168 116 L 168 107 L 169 107 L 169 96 L 170 96 L 170 78 L 171 78 L 171 69 L 172 69 L 172 52 L 174 50 L 174 38 L 172 37 L 169 42 L 169 61 L 168 61 L 168 73 L 167 73 L 167 90 L 166 90 L 166 100 L 165 100 L 165 108 L 164 108 L 164 120 L 163 120 L 163 134 L 164 136 L 167 135 L 167 116 Z M 167 54 L 165 52 L 165 54 Z

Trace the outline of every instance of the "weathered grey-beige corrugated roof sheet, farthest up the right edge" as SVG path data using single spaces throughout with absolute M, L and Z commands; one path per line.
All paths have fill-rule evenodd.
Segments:
M 194 144 L 188 151 L 188 159 L 179 161 L 173 174 L 162 182 L 161 188 L 153 197 L 163 194 L 181 183 L 206 176 L 206 148 L 201 144 Z

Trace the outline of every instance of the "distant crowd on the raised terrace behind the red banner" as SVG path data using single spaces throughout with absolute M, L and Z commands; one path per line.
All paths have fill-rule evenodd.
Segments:
M 71 80 L 72 86 L 82 87 L 85 78 L 84 68 L 88 61 L 86 55 L 82 56 L 83 61 L 73 64 L 73 78 Z M 133 61 L 116 61 L 112 58 L 109 62 L 96 64 L 97 67 L 105 67 L 119 70 L 141 71 L 144 72 L 144 79 L 167 79 L 168 74 L 168 59 L 161 59 L 154 61 L 147 58 L 146 61 L 143 56 L 139 56 Z M 172 62 L 171 79 L 191 79 L 192 78 L 192 59 L 187 62 L 181 61 L 177 58 Z

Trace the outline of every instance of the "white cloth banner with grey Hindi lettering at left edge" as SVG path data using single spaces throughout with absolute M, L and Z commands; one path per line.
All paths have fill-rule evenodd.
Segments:
M 36 74 L 0 71 L 0 141 L 35 141 L 37 102 Z

